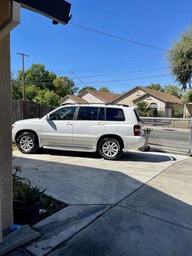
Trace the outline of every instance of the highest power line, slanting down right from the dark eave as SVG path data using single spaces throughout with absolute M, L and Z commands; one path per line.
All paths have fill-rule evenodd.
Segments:
M 109 34 L 109 33 L 105 33 L 105 32 L 102 32 L 102 31 L 99 31 L 99 30 L 96 30 L 96 29 L 92 29 L 92 28 L 88 28 L 88 27 L 84 27 L 84 26 L 81 26 L 79 24 L 76 24 L 74 22 L 68 22 L 74 26 L 77 26 L 79 28 L 83 28 L 83 29 L 87 29 L 87 30 L 90 30 L 90 31 L 93 31 L 93 32 L 96 32 L 96 33 L 100 33 L 102 35 L 106 35 L 106 36 L 111 36 L 113 38 L 116 38 L 116 39 L 120 39 L 120 40 L 124 40 L 124 41 L 127 41 L 129 43 L 132 43 L 132 44 L 139 44 L 139 45 L 143 45 L 143 46 L 146 46 L 146 47 L 150 47 L 150 48 L 154 48 L 154 49 L 158 49 L 158 50 L 161 50 L 161 51 L 168 51 L 167 49 L 163 49 L 163 48 L 160 48 L 160 47 L 156 47 L 154 45 L 148 45 L 148 44 L 143 44 L 141 42 L 136 42 L 136 41 L 132 41 L 132 40 L 129 40 L 127 38 L 123 38 L 123 37 L 120 37 L 120 36 L 115 36 L 115 35 L 112 35 L 112 34 Z

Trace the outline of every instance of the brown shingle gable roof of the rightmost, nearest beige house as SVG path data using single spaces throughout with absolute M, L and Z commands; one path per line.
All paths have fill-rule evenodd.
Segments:
M 173 95 L 170 95 L 170 94 L 164 93 L 164 92 L 159 92 L 157 90 L 152 90 L 152 89 L 149 89 L 149 88 L 144 87 L 144 86 L 135 86 L 134 88 L 132 88 L 131 90 L 126 92 L 124 95 L 121 95 L 120 97 L 118 97 L 117 99 L 120 99 L 122 96 L 125 96 L 126 94 L 128 94 L 132 90 L 135 90 L 136 88 L 141 89 L 141 90 L 145 91 L 146 93 L 150 93 L 151 95 L 154 95 L 155 97 L 163 100 L 164 102 L 178 103 L 178 104 L 182 103 L 181 99 L 179 99 L 179 98 L 177 98 Z M 136 99 L 139 99 L 139 97 L 137 97 Z M 134 100 L 136 100 L 136 99 L 134 99 Z

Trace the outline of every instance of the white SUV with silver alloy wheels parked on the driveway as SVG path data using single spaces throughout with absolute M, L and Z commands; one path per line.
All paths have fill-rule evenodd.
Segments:
M 12 140 L 22 153 L 39 147 L 96 152 L 116 160 L 133 148 L 142 147 L 141 121 L 134 107 L 113 104 L 70 104 L 43 118 L 15 122 Z

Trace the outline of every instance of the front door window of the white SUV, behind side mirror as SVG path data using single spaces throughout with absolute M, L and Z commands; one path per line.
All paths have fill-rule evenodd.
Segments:
M 49 120 L 73 120 L 75 112 L 76 107 L 60 108 L 49 115 Z

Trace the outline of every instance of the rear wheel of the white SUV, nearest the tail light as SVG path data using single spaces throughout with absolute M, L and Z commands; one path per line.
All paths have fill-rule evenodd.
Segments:
M 122 155 L 120 141 L 115 138 L 105 138 L 99 143 L 99 154 L 106 160 L 117 160 Z

